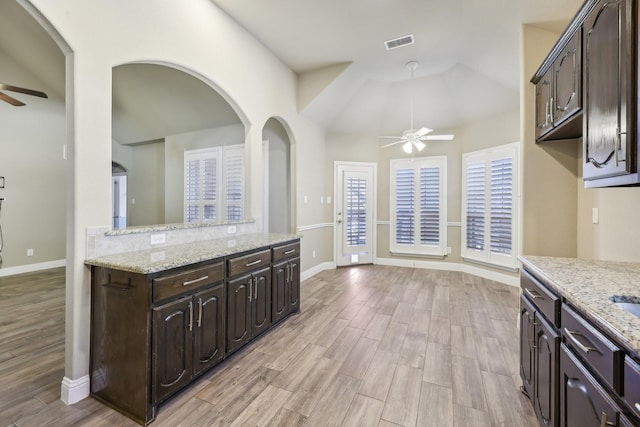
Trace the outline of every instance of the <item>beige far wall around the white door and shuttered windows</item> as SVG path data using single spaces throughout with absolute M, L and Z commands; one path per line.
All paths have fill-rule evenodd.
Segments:
M 479 122 L 470 123 L 455 129 L 439 130 L 442 133 L 453 133 L 453 141 L 430 141 L 427 148 L 420 154 L 405 154 L 400 146 L 380 148 L 383 145 L 376 137 L 362 135 L 330 134 L 327 137 L 327 161 L 325 174 L 331 192 L 333 192 L 334 162 L 372 162 L 378 165 L 377 190 L 377 262 L 403 263 L 403 265 L 443 267 L 449 264 L 452 269 L 458 268 L 454 264 L 465 263 L 460 256 L 461 236 L 460 222 L 462 219 L 460 206 L 462 202 L 462 154 L 469 151 L 489 148 L 496 145 L 508 144 L 519 140 L 520 113 L 518 110 L 508 111 L 499 115 L 485 117 Z M 391 159 L 405 157 L 447 156 L 447 244 L 451 247 L 451 254 L 444 259 L 428 259 L 424 257 L 392 255 L 389 251 L 389 167 Z M 331 193 L 329 193 L 331 194 Z M 333 217 L 333 205 L 320 208 L 327 217 Z M 333 228 L 332 228 L 333 232 Z M 475 265 L 474 265 L 475 267 Z M 487 271 L 496 271 L 489 267 L 478 267 Z M 513 276 L 513 275 L 511 275 Z

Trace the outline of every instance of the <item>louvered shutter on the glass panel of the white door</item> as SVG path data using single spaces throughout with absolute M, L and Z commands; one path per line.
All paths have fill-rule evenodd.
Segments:
M 367 244 L 367 179 L 347 179 L 347 246 Z

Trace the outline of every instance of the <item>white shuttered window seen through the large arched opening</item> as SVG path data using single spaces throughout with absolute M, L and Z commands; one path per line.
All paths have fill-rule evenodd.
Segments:
M 184 221 L 240 221 L 244 215 L 244 146 L 184 152 Z

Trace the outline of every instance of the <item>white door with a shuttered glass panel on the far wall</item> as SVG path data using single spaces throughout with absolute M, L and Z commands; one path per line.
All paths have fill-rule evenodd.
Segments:
M 376 165 L 336 162 L 334 169 L 336 265 L 372 264 Z

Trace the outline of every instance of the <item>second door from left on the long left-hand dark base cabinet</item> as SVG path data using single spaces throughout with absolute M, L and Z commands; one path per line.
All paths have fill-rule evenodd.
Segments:
M 224 283 L 193 296 L 195 325 L 193 374 L 198 375 L 224 356 Z

